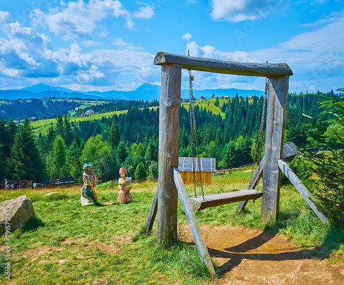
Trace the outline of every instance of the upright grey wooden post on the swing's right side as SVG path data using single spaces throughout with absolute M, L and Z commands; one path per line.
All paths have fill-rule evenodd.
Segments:
M 263 175 L 261 219 L 276 220 L 279 212 L 279 187 L 281 170 L 278 160 L 283 156 L 284 129 L 288 99 L 289 76 L 269 79 L 268 105 L 266 110 L 266 157 Z

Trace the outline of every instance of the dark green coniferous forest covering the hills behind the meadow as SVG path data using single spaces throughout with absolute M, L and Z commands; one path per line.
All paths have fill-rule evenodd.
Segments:
M 341 97 L 341 94 L 333 92 L 326 95 Z M 294 141 L 301 148 L 312 146 L 312 141 L 308 140 L 308 129 L 303 124 L 303 113 L 325 121 L 327 115 L 319 109 L 319 100 L 322 100 L 321 97 L 312 94 L 288 95 L 285 141 Z M 36 101 L 32 100 L 30 104 L 41 106 Z M 217 168 L 251 163 L 263 102 L 263 97 L 243 98 L 236 95 L 219 106 L 224 117 L 195 104 L 200 156 L 215 157 Z M 77 107 L 69 105 L 67 109 Z M 12 119 L 1 119 L 0 181 L 32 179 L 39 182 L 72 176 L 80 182 L 84 159 L 89 159 L 94 165 L 102 181 L 118 179 L 120 167 L 127 168 L 133 178 L 138 175 L 157 176 L 159 109 L 149 108 L 157 105 L 156 101 L 109 101 L 92 109 L 99 112 L 128 110 L 127 113 L 78 123 L 69 122 L 67 115 L 57 115 L 55 124 L 50 126 L 48 132 L 38 136 L 34 135 L 28 119 L 19 125 L 14 124 Z M 78 113 L 86 110 L 79 109 Z M 50 117 L 53 115 L 50 114 Z M 181 157 L 192 156 L 190 137 L 189 111 L 181 106 Z

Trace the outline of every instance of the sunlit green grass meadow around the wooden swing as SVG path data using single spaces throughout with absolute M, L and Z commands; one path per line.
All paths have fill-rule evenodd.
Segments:
M 250 172 L 233 172 L 213 177 L 213 184 L 204 190 L 210 194 L 244 189 L 249 179 Z M 102 204 L 98 207 L 80 206 L 78 187 L 58 189 L 61 194 L 50 198 L 43 195 L 52 190 L 1 191 L 0 201 L 28 195 L 36 211 L 34 220 L 13 233 L 12 278 L 17 284 L 208 283 L 211 277 L 195 247 L 184 242 L 170 249 L 155 244 L 156 225 L 151 236 L 143 234 L 156 185 L 134 183 L 131 193 L 135 202 L 126 205 L 117 203 L 116 183 L 97 185 Z M 193 185 L 186 185 L 186 189 L 191 196 Z M 281 189 L 275 223 L 261 223 L 261 199 L 250 201 L 241 214 L 235 214 L 236 207 L 234 203 L 195 214 L 200 225 L 239 225 L 283 234 L 316 258 L 343 262 L 343 229 L 323 225 L 292 186 Z M 178 223 L 187 224 L 180 201 Z M 4 242 L 0 238 L 0 251 Z M 219 272 L 218 267 L 216 270 Z M 0 283 L 6 279 L 0 277 Z

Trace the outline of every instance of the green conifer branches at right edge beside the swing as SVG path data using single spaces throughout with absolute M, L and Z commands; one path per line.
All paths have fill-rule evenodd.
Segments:
M 332 119 L 318 122 L 312 117 L 308 124 L 308 137 L 317 149 L 303 150 L 303 155 L 314 164 L 314 172 L 319 176 L 319 185 L 310 192 L 317 198 L 316 204 L 334 223 L 341 222 L 344 227 L 344 152 L 336 148 L 344 143 L 344 101 L 326 97 L 319 102 Z M 331 131 L 328 131 L 331 130 Z M 319 150 L 321 148 L 321 150 Z

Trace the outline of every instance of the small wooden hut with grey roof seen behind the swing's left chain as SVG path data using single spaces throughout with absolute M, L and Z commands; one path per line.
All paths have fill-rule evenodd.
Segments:
M 180 157 L 178 168 L 184 184 L 193 183 L 193 158 Z M 200 157 L 200 168 L 203 184 L 211 184 L 211 177 L 215 172 L 215 158 Z M 195 158 L 195 178 L 197 183 L 201 182 L 197 157 Z

